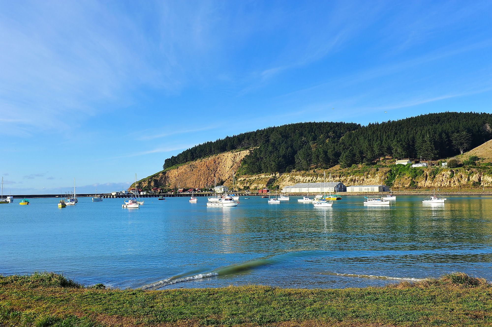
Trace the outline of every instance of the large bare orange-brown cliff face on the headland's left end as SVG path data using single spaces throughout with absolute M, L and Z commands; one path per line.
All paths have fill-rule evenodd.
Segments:
M 224 152 L 209 158 L 184 164 L 176 169 L 160 172 L 139 182 L 144 189 L 163 187 L 174 189 L 178 186 L 188 188 L 210 188 L 225 182 L 232 181 L 232 172 L 236 171 L 249 150 Z

